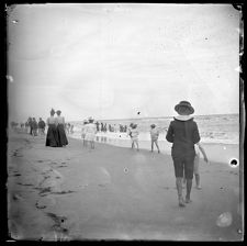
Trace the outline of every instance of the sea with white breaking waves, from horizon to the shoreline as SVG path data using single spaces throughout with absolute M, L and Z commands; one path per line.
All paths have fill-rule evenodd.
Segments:
M 138 125 L 139 141 L 149 142 L 150 124 L 156 124 L 161 128 L 159 142 L 166 142 L 166 131 L 172 116 L 168 118 L 139 118 L 139 119 L 122 119 L 122 120 L 98 120 L 98 122 L 111 124 L 115 127 L 114 132 L 97 134 L 98 142 L 105 142 L 119 146 L 130 146 L 130 137 L 126 133 L 119 131 L 119 124 L 130 125 L 132 122 Z M 97 120 L 96 120 L 97 121 Z M 194 115 L 194 121 L 198 123 L 202 143 L 213 144 L 239 144 L 239 114 L 214 114 L 214 115 Z M 81 138 L 82 121 L 69 122 L 74 124 L 74 134 L 70 137 Z M 127 141 L 128 139 L 128 141 Z M 124 142 L 127 141 L 127 144 Z

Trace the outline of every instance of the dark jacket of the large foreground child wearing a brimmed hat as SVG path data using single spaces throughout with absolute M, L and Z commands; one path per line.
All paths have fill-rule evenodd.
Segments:
M 172 156 L 194 155 L 194 144 L 200 141 L 198 124 L 193 119 L 180 121 L 175 118 L 170 122 L 166 138 L 172 143 Z

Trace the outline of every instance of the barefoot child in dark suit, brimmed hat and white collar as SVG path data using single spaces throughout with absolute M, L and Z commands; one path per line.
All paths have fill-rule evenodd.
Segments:
M 179 115 L 175 116 L 175 120 L 170 122 L 166 138 L 168 142 L 172 143 L 171 157 L 175 166 L 178 200 L 179 205 L 184 206 L 186 204 L 182 197 L 183 169 L 187 179 L 186 203 L 189 203 L 191 202 L 190 193 L 195 157 L 194 144 L 200 142 L 200 134 L 198 124 L 190 115 L 194 113 L 194 109 L 191 107 L 190 102 L 181 101 L 175 107 L 175 110 Z

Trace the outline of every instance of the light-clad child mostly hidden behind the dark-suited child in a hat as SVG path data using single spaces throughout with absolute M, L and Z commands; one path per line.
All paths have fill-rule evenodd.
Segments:
M 194 157 L 194 178 L 195 178 L 195 188 L 198 190 L 201 190 L 201 182 L 200 182 L 200 174 L 199 174 L 199 163 L 200 163 L 200 152 L 203 155 L 203 159 L 205 163 L 209 163 L 206 153 L 204 148 L 202 147 L 201 143 L 198 143 L 194 145 L 194 150 L 195 150 L 195 157 Z M 183 183 L 186 183 L 186 178 L 183 177 Z

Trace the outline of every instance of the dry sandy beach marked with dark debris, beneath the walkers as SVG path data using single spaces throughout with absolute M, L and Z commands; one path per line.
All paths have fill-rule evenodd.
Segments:
M 192 203 L 179 208 L 169 155 L 100 143 L 90 150 L 74 138 L 66 148 L 44 143 L 45 136 L 9 136 L 13 239 L 243 238 L 238 167 L 202 161 L 202 190 L 193 188 Z

